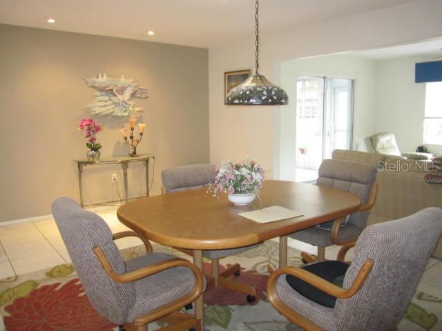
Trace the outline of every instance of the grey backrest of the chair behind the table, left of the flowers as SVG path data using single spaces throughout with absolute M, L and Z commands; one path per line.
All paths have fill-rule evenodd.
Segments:
M 163 186 L 167 193 L 204 188 L 215 181 L 215 165 L 193 164 L 164 169 Z

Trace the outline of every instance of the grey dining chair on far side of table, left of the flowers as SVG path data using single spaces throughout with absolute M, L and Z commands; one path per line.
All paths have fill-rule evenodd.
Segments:
M 204 188 L 209 183 L 215 181 L 215 165 L 195 164 L 180 165 L 177 167 L 165 169 L 162 172 L 163 192 L 173 193 L 186 190 L 196 190 Z M 222 286 L 237 292 L 247 294 L 249 303 L 258 299 L 256 289 L 253 286 L 234 281 L 229 278 L 231 275 L 239 276 L 241 265 L 235 263 L 223 272 L 220 272 L 220 259 L 234 254 L 245 252 L 255 248 L 257 245 L 251 245 L 242 248 L 233 248 L 229 250 L 205 250 L 203 256 L 211 260 L 211 274 L 204 274 L 207 279 L 207 290 L 214 286 Z M 182 250 L 187 254 L 192 254 L 190 250 Z

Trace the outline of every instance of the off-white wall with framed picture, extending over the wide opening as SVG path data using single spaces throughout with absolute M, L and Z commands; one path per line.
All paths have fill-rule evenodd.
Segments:
M 282 60 L 441 37 L 441 12 L 442 1 L 417 0 L 334 21 L 261 33 L 260 71 L 273 83 L 281 83 Z M 250 155 L 273 170 L 280 163 L 280 114 L 289 112 L 290 104 L 279 108 L 223 104 L 223 72 L 253 68 L 253 52 L 253 38 L 209 50 L 211 162 Z M 278 173 L 269 173 L 269 177 L 275 175 Z

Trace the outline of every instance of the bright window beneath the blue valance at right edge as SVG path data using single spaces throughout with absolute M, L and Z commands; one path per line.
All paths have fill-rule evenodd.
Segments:
M 442 81 L 427 83 L 423 143 L 442 145 Z

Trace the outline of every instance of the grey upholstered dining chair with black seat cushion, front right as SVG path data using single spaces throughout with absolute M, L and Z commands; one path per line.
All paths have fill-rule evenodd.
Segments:
M 303 330 L 396 330 L 441 232 L 440 208 L 371 225 L 359 237 L 351 265 L 343 262 L 347 245 L 340 261 L 273 272 L 270 302 Z

